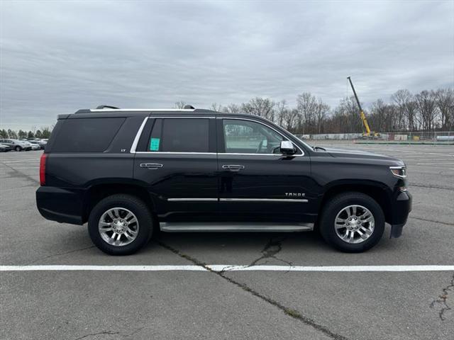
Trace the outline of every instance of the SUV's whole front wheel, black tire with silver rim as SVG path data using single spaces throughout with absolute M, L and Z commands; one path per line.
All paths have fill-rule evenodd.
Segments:
M 360 253 L 371 249 L 382 238 L 384 213 L 380 205 L 364 193 L 343 193 L 331 198 L 323 208 L 320 232 L 334 248 Z

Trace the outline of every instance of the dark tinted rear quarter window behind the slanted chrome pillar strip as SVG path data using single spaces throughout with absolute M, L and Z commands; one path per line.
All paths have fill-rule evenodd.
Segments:
M 103 152 L 125 118 L 67 119 L 58 131 L 52 152 Z

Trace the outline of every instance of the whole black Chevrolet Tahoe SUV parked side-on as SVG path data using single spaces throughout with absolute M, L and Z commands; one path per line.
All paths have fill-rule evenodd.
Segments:
M 399 237 L 406 168 L 379 154 L 311 147 L 254 115 L 101 106 L 59 115 L 40 162 L 38 210 L 88 222 L 96 246 L 132 254 L 153 232 L 319 229 L 341 251 Z

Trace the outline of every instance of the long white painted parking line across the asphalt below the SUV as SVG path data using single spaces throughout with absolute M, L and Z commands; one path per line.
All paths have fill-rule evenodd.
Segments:
M 0 266 L 0 271 L 319 271 L 319 272 L 365 272 L 365 271 L 454 271 L 453 266 L 235 266 L 211 264 L 202 266 L 80 266 L 80 265 L 37 265 Z

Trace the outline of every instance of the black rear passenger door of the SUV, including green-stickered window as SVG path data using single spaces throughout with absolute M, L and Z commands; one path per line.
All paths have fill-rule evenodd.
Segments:
M 211 220 L 218 207 L 216 120 L 156 114 L 138 140 L 134 178 L 143 182 L 160 222 Z

